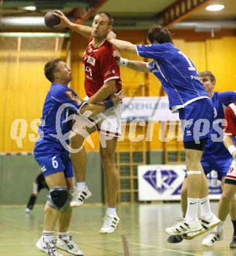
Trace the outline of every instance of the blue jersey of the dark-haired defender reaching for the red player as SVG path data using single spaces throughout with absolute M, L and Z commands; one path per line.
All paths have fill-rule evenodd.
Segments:
M 171 110 L 209 97 L 193 62 L 172 43 L 136 45 L 136 50 L 142 57 L 153 58 L 149 70 L 161 81 Z

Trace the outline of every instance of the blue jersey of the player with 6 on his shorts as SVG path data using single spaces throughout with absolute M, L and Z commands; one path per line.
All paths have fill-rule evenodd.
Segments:
M 73 114 L 79 114 L 79 109 L 86 104 L 66 85 L 52 83 L 43 105 L 43 117 L 39 125 L 40 139 L 59 142 L 60 137 L 72 128 Z M 69 118 L 68 118 L 69 117 Z M 59 131 L 59 133 L 58 133 Z M 69 138 L 69 136 L 68 136 Z M 68 139 L 64 139 L 69 143 Z

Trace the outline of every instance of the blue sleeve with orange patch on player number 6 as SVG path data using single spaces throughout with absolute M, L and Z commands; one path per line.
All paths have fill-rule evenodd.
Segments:
M 62 90 L 54 91 L 51 94 L 52 100 L 60 102 L 61 104 L 66 104 L 66 106 L 75 114 L 79 114 L 79 110 L 87 104 L 83 99 L 71 89 L 65 88 Z

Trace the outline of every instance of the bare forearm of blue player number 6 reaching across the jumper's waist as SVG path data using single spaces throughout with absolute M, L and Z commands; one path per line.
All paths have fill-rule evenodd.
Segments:
M 83 114 L 85 111 L 91 111 L 92 116 L 100 114 L 108 108 L 116 106 L 117 104 L 122 102 L 123 99 L 123 90 L 119 91 L 119 93 L 115 94 L 112 99 L 104 100 L 103 102 L 96 103 L 96 104 L 87 104 L 84 105 L 80 110 L 79 113 Z

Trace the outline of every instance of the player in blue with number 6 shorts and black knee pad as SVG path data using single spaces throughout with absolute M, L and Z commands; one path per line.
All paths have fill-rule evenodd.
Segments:
M 43 117 L 39 125 L 40 138 L 35 143 L 34 157 L 39 163 L 49 186 L 45 205 L 43 235 L 36 246 L 49 256 L 62 256 L 56 247 L 74 255 L 83 255 L 69 235 L 71 208 L 69 194 L 75 189 L 73 166 L 69 158 L 69 133 L 74 114 L 99 114 L 119 104 L 123 91 L 111 100 L 98 104 L 87 104 L 68 87 L 72 80 L 71 71 L 56 58 L 45 64 L 45 76 L 52 83 L 43 106 Z M 75 123 L 76 125 L 76 123 Z M 74 126 L 75 126 L 74 125 Z M 58 219 L 58 236 L 53 240 L 54 226 Z

